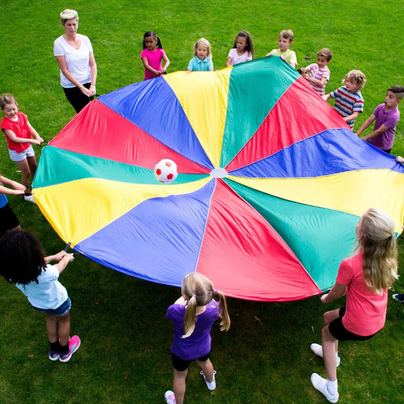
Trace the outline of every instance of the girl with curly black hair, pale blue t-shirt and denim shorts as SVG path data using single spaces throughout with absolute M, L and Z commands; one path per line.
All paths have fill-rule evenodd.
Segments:
M 33 234 L 15 230 L 0 239 L 0 256 L 0 275 L 17 286 L 34 309 L 48 317 L 49 359 L 67 362 L 80 346 L 80 338 L 69 337 L 72 303 L 58 278 L 74 260 L 73 254 L 61 251 L 45 257 L 42 244 Z M 51 261 L 58 263 L 50 265 Z

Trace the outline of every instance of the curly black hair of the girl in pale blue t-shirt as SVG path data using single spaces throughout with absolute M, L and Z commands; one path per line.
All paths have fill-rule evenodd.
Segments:
M 0 257 L 0 275 L 12 284 L 38 283 L 38 276 L 46 269 L 42 244 L 26 230 L 13 230 L 2 236 Z

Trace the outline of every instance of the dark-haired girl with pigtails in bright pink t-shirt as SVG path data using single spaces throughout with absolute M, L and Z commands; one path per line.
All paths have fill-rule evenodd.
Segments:
M 145 66 L 145 80 L 165 74 L 170 65 L 160 38 L 154 31 L 147 31 L 143 35 L 143 50 L 140 57 Z M 164 67 L 162 67 L 161 60 L 164 61 Z

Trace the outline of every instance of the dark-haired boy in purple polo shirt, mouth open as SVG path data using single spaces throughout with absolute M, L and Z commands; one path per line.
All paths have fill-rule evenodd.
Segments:
M 360 135 L 374 120 L 376 120 L 375 128 L 372 133 L 362 137 L 378 149 L 390 153 L 393 147 L 394 132 L 396 125 L 400 120 L 400 111 L 398 104 L 404 97 L 403 86 L 393 86 L 387 89 L 387 95 L 384 103 L 376 107 L 373 114 L 359 128 L 356 135 Z

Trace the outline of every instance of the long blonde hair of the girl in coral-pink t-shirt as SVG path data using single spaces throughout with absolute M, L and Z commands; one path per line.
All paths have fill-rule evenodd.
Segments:
M 398 279 L 394 228 L 393 218 L 374 208 L 366 210 L 356 226 L 358 246 L 354 251 L 363 251 L 363 278 L 377 295 L 383 295 Z

